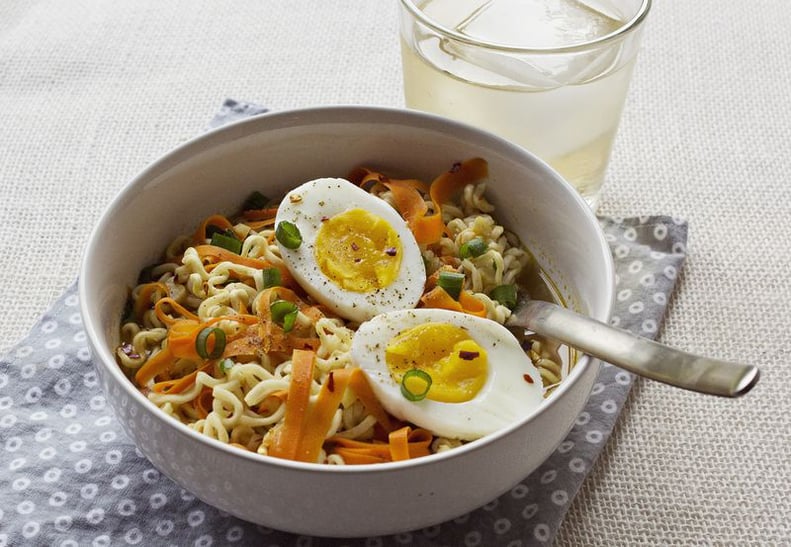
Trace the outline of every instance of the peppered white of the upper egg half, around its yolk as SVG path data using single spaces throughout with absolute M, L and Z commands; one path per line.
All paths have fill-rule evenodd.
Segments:
M 322 273 L 315 256 L 316 235 L 322 221 L 357 208 L 390 224 L 398 234 L 402 249 L 396 279 L 387 287 L 368 293 L 338 286 Z M 420 247 L 406 221 L 386 201 L 345 179 L 321 178 L 286 194 L 278 207 L 275 225 L 284 220 L 293 222 L 302 235 L 302 244 L 297 249 L 288 249 L 278 242 L 286 266 L 308 294 L 334 313 L 362 322 L 379 313 L 414 308 L 419 302 L 426 282 Z

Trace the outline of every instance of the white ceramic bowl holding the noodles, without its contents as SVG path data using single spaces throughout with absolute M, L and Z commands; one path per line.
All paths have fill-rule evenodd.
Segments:
M 340 537 L 451 519 L 538 467 L 582 409 L 598 362 L 583 357 L 538 412 L 495 435 L 408 462 L 329 467 L 245 453 L 192 431 L 138 392 L 113 357 L 127 291 L 141 268 L 209 214 L 235 211 L 252 190 L 276 195 L 358 165 L 431 180 L 474 156 L 489 162 L 498 220 L 533 250 L 574 308 L 609 319 L 612 259 L 584 201 L 523 149 L 443 118 L 369 107 L 267 114 L 202 135 L 132 180 L 90 237 L 79 290 L 107 399 L 146 457 L 199 498 L 242 519 Z

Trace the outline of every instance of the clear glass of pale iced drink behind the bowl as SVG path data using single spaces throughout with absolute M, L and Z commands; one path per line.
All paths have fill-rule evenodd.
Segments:
M 409 108 L 505 137 L 598 206 L 651 0 L 400 0 Z

